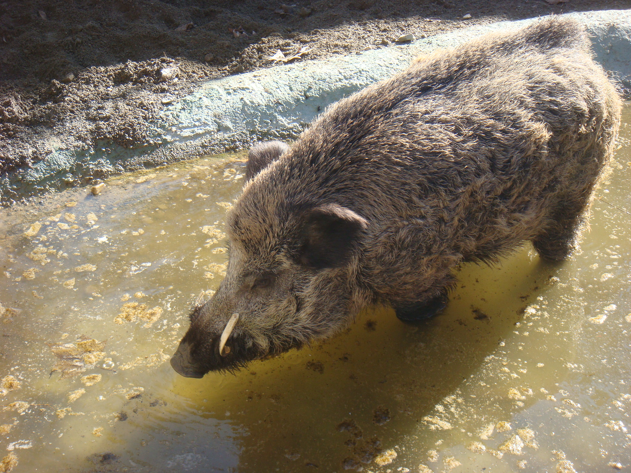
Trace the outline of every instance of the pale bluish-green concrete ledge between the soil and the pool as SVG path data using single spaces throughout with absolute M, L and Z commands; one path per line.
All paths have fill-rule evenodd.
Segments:
M 569 13 L 587 26 L 597 61 L 631 91 L 631 9 Z M 215 79 L 189 96 L 164 105 L 150 124 L 156 143 L 125 149 L 103 143 L 64 148 L 63 139 L 32 168 L 0 177 L 1 203 L 65 189 L 86 176 L 127 170 L 249 147 L 262 139 L 295 139 L 320 112 L 365 86 L 391 76 L 416 55 L 453 47 L 488 32 L 515 29 L 535 19 L 471 26 L 408 45 L 369 50 L 326 61 L 305 61 Z

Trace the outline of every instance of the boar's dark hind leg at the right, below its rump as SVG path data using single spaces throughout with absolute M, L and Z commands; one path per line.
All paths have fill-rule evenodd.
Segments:
M 558 205 L 545 232 L 534 238 L 533 246 L 542 258 L 562 261 L 575 249 L 576 234 L 584 221 L 590 189 Z

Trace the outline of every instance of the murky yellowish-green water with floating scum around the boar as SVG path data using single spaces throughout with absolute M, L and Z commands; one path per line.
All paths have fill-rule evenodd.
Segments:
M 581 252 L 467 265 L 418 328 L 389 309 L 237 375 L 168 365 L 225 267 L 242 155 L 0 212 L 0 471 L 610 472 L 631 463 L 631 114 Z M 613 467 L 613 468 L 612 468 Z

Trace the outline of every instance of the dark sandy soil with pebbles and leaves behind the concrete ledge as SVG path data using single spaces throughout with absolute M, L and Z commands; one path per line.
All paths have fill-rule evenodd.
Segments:
M 66 146 L 151 144 L 145 124 L 163 101 L 209 78 L 273 67 L 268 57 L 278 49 L 288 55 L 309 48 L 294 61 L 310 61 L 388 47 L 407 33 L 428 37 L 476 23 L 623 8 L 631 1 L 0 3 L 0 176 L 42 160 L 51 137 Z

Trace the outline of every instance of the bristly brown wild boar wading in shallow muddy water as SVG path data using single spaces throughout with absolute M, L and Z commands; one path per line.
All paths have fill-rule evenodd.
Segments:
M 258 144 L 227 218 L 227 276 L 172 366 L 237 370 L 331 337 L 371 303 L 422 320 L 447 303 L 454 266 L 526 240 L 564 259 L 620 110 L 584 28 L 548 18 L 418 59 L 291 148 Z

